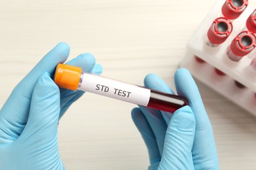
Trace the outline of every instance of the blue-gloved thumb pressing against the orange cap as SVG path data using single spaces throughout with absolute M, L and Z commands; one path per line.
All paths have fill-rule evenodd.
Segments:
M 32 93 L 26 127 L 13 143 L 0 146 L 0 169 L 64 169 L 57 143 L 60 90 L 44 73 Z

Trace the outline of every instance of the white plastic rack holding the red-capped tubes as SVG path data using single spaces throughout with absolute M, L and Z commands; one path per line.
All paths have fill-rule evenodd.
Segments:
M 248 5 L 236 20 L 232 20 L 233 31 L 223 44 L 217 47 L 205 46 L 207 31 L 221 15 L 224 2 L 218 0 L 195 31 L 188 42 L 180 67 L 188 69 L 194 78 L 256 116 L 256 74 L 250 67 L 251 60 L 256 57 L 256 50 L 238 62 L 232 61 L 226 54 L 234 37 L 245 29 L 245 22 L 254 9 Z M 196 58 L 205 62 L 200 63 Z M 216 69 L 224 75 L 218 75 Z M 245 88 L 239 88 L 235 81 L 243 84 Z

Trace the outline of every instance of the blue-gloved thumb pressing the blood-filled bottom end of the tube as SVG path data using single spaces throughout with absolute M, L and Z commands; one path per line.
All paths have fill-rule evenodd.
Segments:
M 159 169 L 194 169 L 192 146 L 196 120 L 189 106 L 174 112 L 165 134 Z

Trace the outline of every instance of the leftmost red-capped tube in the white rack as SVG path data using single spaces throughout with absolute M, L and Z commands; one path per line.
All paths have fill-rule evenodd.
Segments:
M 207 31 L 206 44 L 211 47 L 219 46 L 232 33 L 233 25 L 228 18 L 220 17 L 213 21 Z

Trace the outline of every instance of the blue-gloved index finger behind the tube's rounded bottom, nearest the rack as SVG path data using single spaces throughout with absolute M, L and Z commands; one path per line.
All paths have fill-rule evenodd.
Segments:
M 203 106 L 198 87 L 188 70 L 177 70 L 175 86 L 178 95 L 188 99 L 188 104 L 196 118 L 196 133 L 192 149 L 195 169 L 219 169 L 211 122 Z

